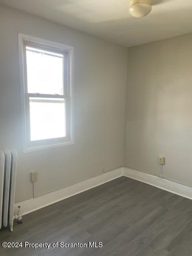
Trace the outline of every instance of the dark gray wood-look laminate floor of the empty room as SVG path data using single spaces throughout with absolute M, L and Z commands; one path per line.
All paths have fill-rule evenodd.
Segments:
M 102 242 L 102 248 L 2 248 L 0 256 L 192 256 L 192 201 L 120 177 L 0 231 L 2 242 Z

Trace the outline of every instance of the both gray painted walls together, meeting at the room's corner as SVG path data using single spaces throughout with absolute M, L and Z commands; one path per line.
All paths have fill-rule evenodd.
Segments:
M 164 176 L 192 186 L 192 34 L 127 50 L 1 5 L 0 24 L 0 148 L 18 151 L 16 202 L 32 198 L 31 171 L 40 195 L 122 166 L 123 153 L 155 175 L 165 156 Z M 22 152 L 17 32 L 74 46 L 73 146 Z

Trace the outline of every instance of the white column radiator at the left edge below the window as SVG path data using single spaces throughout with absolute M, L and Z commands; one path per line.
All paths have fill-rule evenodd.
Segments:
M 16 150 L 0 150 L 0 229 L 13 231 L 14 198 L 17 171 Z

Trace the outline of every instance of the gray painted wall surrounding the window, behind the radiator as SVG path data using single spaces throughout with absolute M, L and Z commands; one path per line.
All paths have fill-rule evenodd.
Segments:
M 0 148 L 18 151 L 16 202 L 123 164 L 127 48 L 0 6 Z M 22 152 L 17 32 L 74 46 L 75 144 Z

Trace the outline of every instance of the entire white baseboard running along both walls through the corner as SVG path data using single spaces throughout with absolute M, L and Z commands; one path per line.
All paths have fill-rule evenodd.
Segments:
M 43 196 L 39 196 L 37 198 L 31 198 L 24 202 L 16 203 L 14 205 L 14 213 L 17 212 L 18 206 L 22 207 L 23 215 L 28 214 L 30 212 L 34 212 L 34 211 L 39 210 L 43 207 L 46 207 L 50 204 L 54 204 L 56 202 L 66 199 L 70 196 L 74 196 L 76 194 L 79 194 L 81 192 L 89 190 L 91 188 L 94 188 L 96 186 L 99 186 L 101 184 L 109 182 L 110 180 L 114 180 L 121 176 L 126 176 L 128 178 L 132 178 L 134 180 L 144 182 L 146 184 L 149 184 L 149 185 L 157 187 L 157 188 L 161 188 L 163 190 L 177 194 L 179 196 L 183 196 L 183 197 L 192 199 L 192 188 L 191 187 L 188 187 L 188 186 L 185 186 L 185 185 L 182 185 L 182 184 L 170 181 L 170 180 L 166 180 L 163 178 L 159 178 L 159 177 L 151 175 L 151 174 L 146 174 L 144 172 L 139 172 L 136 170 L 132 170 L 132 169 L 123 167 L 123 168 L 113 170 L 111 172 L 106 172 L 106 173 L 100 174 L 98 176 L 89 178 L 87 180 L 83 180 L 81 182 L 72 184 L 65 188 L 61 188 L 54 192 L 50 192 Z

